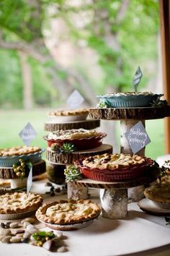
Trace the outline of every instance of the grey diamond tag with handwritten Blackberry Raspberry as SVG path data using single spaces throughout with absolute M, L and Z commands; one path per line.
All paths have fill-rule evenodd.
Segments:
M 130 148 L 133 150 L 134 154 L 146 147 L 146 145 L 151 142 L 141 121 L 130 128 L 128 132 L 125 132 L 125 137 L 128 140 Z

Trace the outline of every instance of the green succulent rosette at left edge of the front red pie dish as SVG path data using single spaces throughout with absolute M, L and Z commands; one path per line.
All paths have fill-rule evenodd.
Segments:
M 74 165 L 67 166 L 64 170 L 64 174 L 66 175 L 66 182 L 73 182 L 76 179 L 81 179 L 81 172 Z

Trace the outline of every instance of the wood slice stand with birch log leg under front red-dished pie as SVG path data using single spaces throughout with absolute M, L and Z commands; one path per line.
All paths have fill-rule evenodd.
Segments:
M 124 182 L 98 182 L 91 179 L 76 181 L 82 187 L 94 187 L 100 189 L 100 203 L 104 218 L 125 218 L 128 213 L 128 188 L 148 184 L 156 179 L 156 174 L 143 175 L 138 179 Z

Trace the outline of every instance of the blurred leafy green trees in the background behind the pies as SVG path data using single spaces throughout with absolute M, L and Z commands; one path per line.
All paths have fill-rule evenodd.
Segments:
M 132 90 L 138 64 L 146 74 L 143 85 L 154 75 L 156 0 L 1 0 L 0 10 L 1 106 L 7 95 L 13 106 L 21 107 L 22 84 L 25 108 L 32 108 L 32 90 L 40 106 L 53 95 L 61 103 L 73 88 L 94 105 L 95 94 Z M 84 70 L 80 56 L 70 67 L 55 59 L 45 35 L 52 20 L 61 20 L 66 28 L 58 35 L 59 43 L 65 38 L 78 54 L 89 48 L 91 58 L 97 56 L 101 74 L 95 79 Z

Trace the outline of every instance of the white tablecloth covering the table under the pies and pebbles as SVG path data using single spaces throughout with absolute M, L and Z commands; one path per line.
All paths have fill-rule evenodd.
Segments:
M 47 189 L 42 182 L 35 182 L 32 187 L 40 193 Z M 97 190 L 90 192 L 91 199 L 99 202 Z M 57 199 L 58 196 L 50 197 L 52 201 Z M 68 236 L 68 252 L 57 253 L 58 256 L 170 255 L 170 226 L 166 226 L 164 217 L 143 213 L 135 202 L 128 205 L 128 217 L 123 220 L 99 216 L 84 229 L 63 233 Z M 0 244 L 0 256 L 24 255 L 52 256 L 55 253 L 30 244 Z

